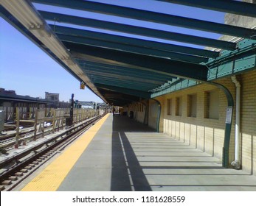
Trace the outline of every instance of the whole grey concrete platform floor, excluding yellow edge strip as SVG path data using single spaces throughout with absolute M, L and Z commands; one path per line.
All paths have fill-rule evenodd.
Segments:
M 256 177 L 125 116 L 108 116 L 57 191 L 256 191 Z

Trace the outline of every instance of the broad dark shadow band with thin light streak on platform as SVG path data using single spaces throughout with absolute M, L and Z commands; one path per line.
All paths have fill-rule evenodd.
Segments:
M 125 131 L 145 131 L 130 119 L 114 116 L 112 132 L 111 191 L 152 191 Z M 124 122 L 125 121 L 125 122 Z M 141 128 L 143 127 L 143 128 Z

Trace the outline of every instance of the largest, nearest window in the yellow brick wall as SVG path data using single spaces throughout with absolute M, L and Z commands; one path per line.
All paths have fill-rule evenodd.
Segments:
M 218 119 L 219 116 L 219 93 L 208 91 L 205 93 L 204 118 Z

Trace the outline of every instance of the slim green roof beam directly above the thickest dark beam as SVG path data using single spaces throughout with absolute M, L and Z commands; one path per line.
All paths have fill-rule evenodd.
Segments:
M 170 58 L 173 60 L 191 62 L 191 63 L 207 63 L 208 58 L 206 57 L 197 57 L 188 54 L 179 54 L 170 51 L 161 51 L 156 49 L 148 49 L 139 46 L 130 46 L 128 44 L 120 44 L 120 43 L 110 43 L 104 40 L 94 40 L 89 38 L 80 38 L 70 35 L 58 35 L 58 38 L 63 42 L 71 42 L 71 43 L 80 43 L 86 44 L 89 46 L 98 46 L 108 49 L 120 50 L 120 51 L 128 51 L 136 54 L 144 54 L 149 56 Z

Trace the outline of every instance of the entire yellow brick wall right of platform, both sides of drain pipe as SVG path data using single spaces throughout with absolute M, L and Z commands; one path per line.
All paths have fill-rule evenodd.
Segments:
M 242 168 L 256 174 L 256 71 L 238 76 L 241 81 L 241 161 Z M 230 77 L 218 79 L 232 93 L 235 103 L 235 85 Z M 205 92 L 218 90 L 219 118 L 204 118 Z M 197 116 L 187 117 L 187 95 L 197 95 Z M 182 98 L 182 115 L 176 116 L 176 97 Z M 162 104 L 162 130 L 177 140 L 190 143 L 222 159 L 227 100 L 224 92 L 214 85 L 202 84 L 156 98 Z M 172 99 L 171 115 L 167 115 L 167 99 Z M 150 118 L 150 117 L 149 117 Z M 229 144 L 229 163 L 235 158 L 235 105 Z

